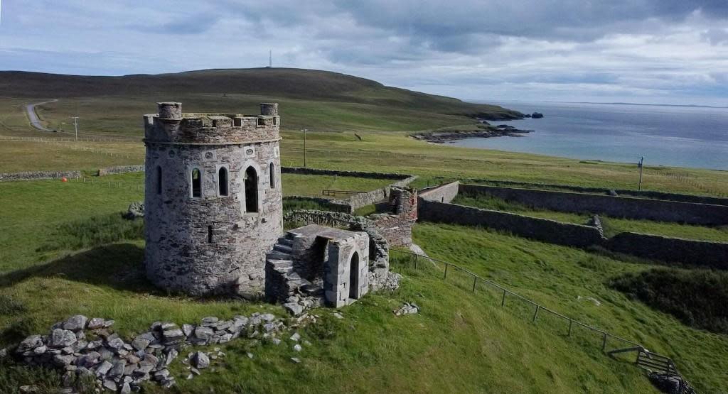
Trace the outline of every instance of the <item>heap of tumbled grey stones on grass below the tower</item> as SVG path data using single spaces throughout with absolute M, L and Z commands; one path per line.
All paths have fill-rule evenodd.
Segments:
M 309 315 L 301 316 L 290 321 L 289 325 L 304 326 L 308 323 L 316 323 L 316 319 Z M 31 335 L 16 346 L 0 350 L 0 359 L 12 357 L 19 363 L 56 369 L 63 374 L 62 383 L 66 388 L 79 385 L 79 380 L 91 379 L 95 381 L 97 393 L 129 394 L 142 390 L 149 381 L 166 388 L 175 385 L 171 364 L 186 347 L 223 344 L 237 338 L 256 342 L 264 339 L 279 345 L 282 334 L 290 329 L 282 319 L 271 313 L 237 315 L 231 320 L 210 316 L 197 325 L 178 326 L 157 321 L 151 324 L 149 331 L 127 342 L 113 332 L 113 324 L 113 320 L 103 318 L 71 316 L 52 326 L 46 335 Z M 209 367 L 211 359 L 214 362 L 222 357 L 224 353 L 218 350 L 209 356 L 195 352 L 181 357 L 181 363 L 187 364 L 187 369 L 191 370 L 186 372 L 189 374 L 186 379 L 194 378 L 201 373 L 200 370 Z

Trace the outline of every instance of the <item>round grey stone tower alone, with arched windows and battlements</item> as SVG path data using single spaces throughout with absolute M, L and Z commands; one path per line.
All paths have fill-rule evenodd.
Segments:
M 147 276 L 191 295 L 258 294 L 283 233 L 278 105 L 258 116 L 157 105 L 144 116 Z

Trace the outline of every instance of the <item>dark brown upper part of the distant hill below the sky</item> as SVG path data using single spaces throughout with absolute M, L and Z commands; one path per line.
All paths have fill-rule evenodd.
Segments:
M 371 79 L 298 68 L 234 68 L 128 76 L 74 76 L 27 71 L 0 71 L 5 97 L 64 98 L 95 96 L 166 97 L 258 95 L 270 98 L 345 100 L 488 120 L 523 118 L 498 105 L 475 104 L 452 97 L 387 87 Z

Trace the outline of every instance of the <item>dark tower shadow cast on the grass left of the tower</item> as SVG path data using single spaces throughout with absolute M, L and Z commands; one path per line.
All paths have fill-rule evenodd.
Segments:
M 59 277 L 129 292 L 158 293 L 146 280 L 144 249 L 134 244 L 110 244 L 71 254 L 43 265 L 0 275 L 0 288 L 33 277 Z

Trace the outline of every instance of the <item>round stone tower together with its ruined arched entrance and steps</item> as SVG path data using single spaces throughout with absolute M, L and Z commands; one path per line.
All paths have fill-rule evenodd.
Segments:
M 154 284 L 339 307 L 368 292 L 370 270 L 387 280 L 382 253 L 369 259 L 370 248 L 388 249 L 384 238 L 382 248 L 366 231 L 306 225 L 284 233 L 277 104 L 262 103 L 256 116 L 158 105 L 144 116 L 145 265 Z

